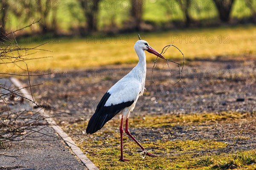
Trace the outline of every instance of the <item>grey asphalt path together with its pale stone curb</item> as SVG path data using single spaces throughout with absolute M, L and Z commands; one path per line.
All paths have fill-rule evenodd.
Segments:
M 20 89 L 17 79 L 0 79 L 1 85 L 6 88 Z M 9 91 L 0 88 L 0 94 Z M 24 89 L 19 92 L 26 98 L 31 98 Z M 16 105 L 16 104 L 15 104 Z M 17 105 L 10 104 L 9 108 L 15 109 Z M 21 105 L 20 105 L 21 106 Z M 34 111 L 29 102 L 22 104 L 26 111 Z M 0 114 L 4 114 L 3 112 Z M 41 112 L 44 116 L 47 113 Z M 64 133 L 59 126 L 53 125 L 54 121 L 41 121 L 33 130 L 38 131 L 26 137 L 26 141 L 10 143 L 7 149 L 0 149 L 0 170 L 97 170 L 97 167 L 76 147 L 74 142 Z M 31 130 L 26 131 L 26 134 Z M 41 135 L 41 134 L 47 135 Z M 25 134 L 25 135 L 26 135 Z M 64 140 L 60 140 L 64 139 Z

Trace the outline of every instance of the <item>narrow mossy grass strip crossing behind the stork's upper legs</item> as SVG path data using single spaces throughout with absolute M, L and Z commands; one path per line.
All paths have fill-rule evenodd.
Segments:
M 253 113 L 255 115 L 255 113 Z M 157 115 L 157 116 L 134 116 L 129 119 L 129 127 L 170 127 L 177 125 L 202 125 L 216 124 L 217 122 L 233 122 L 252 116 L 251 113 L 239 112 L 220 112 L 220 113 L 198 113 L 198 114 L 180 114 L 180 115 Z M 112 119 L 105 126 L 119 126 L 119 119 Z M 81 127 L 87 125 L 84 122 Z

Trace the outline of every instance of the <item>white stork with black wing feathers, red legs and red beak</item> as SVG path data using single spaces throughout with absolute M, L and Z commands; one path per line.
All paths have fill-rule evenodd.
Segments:
M 131 111 L 134 110 L 135 104 L 139 96 L 143 95 L 145 89 L 145 77 L 146 77 L 146 56 L 145 50 L 149 53 L 156 55 L 157 57 L 166 59 L 154 48 L 148 45 L 148 42 L 144 40 L 138 40 L 134 49 L 139 57 L 139 62 L 130 73 L 120 79 L 113 85 L 107 93 L 104 94 L 99 104 L 97 105 L 96 111 L 90 118 L 88 126 L 86 128 L 87 134 L 95 133 L 100 130 L 106 122 L 112 119 L 117 113 L 122 111 L 122 118 L 120 124 L 120 137 L 121 137 L 121 157 L 120 161 L 129 161 L 123 157 L 123 120 L 125 121 L 125 133 L 127 133 L 131 139 L 133 139 L 143 150 L 143 152 L 151 157 L 155 157 L 151 153 L 145 150 L 145 148 L 131 135 L 128 130 L 128 117 Z

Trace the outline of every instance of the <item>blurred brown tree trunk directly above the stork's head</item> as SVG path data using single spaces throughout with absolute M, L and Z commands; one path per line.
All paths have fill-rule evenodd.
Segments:
M 136 31 L 141 30 L 143 5 L 143 0 L 131 0 L 131 20 Z

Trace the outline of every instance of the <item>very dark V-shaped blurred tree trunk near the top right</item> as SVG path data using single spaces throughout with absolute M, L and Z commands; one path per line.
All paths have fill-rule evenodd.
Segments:
M 213 0 L 222 22 L 228 22 L 234 0 Z

